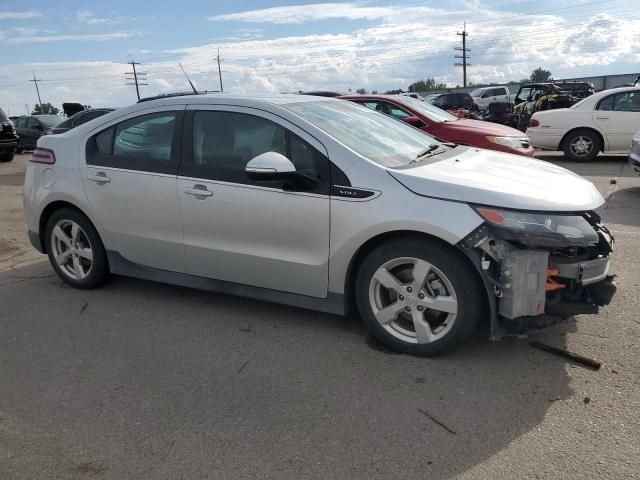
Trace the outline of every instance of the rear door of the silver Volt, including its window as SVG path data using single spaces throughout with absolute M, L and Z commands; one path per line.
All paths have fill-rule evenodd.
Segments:
M 140 265 L 185 273 L 177 199 L 184 111 L 175 108 L 137 113 L 101 128 L 87 140 L 80 170 L 94 215 L 117 253 Z

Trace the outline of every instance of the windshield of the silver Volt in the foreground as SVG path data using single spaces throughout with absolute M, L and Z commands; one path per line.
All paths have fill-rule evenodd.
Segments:
M 433 137 L 400 120 L 345 100 L 284 106 L 383 167 L 407 165 L 425 148 L 439 144 Z

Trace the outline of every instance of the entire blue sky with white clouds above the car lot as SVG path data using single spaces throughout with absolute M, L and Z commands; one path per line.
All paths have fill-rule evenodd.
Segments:
M 631 0 L 109 2 L 0 1 L 0 106 L 43 101 L 121 106 L 130 57 L 142 93 L 185 89 L 290 92 L 406 88 L 433 76 L 461 83 L 456 31 L 468 22 L 469 78 L 518 80 L 543 66 L 556 77 L 640 70 L 640 11 Z M 28 6 L 27 6 L 28 5 Z

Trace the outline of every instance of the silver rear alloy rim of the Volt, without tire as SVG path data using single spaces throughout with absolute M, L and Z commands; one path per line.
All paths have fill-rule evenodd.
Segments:
M 84 230 L 72 220 L 60 220 L 51 230 L 51 250 L 65 275 L 83 280 L 93 266 L 93 249 Z

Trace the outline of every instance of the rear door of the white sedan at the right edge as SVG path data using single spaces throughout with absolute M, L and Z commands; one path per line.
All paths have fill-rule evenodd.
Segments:
M 640 131 L 640 90 L 615 93 L 603 98 L 593 112 L 593 123 L 607 137 L 607 149 L 627 151 Z

